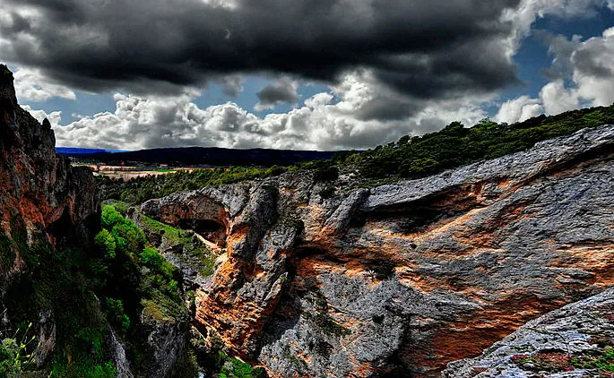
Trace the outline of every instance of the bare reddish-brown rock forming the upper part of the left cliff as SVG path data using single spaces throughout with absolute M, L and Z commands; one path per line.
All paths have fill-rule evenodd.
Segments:
M 52 244 L 87 238 L 99 214 L 98 189 L 91 172 L 72 167 L 55 146 L 49 122 L 39 124 L 17 105 L 13 73 L 0 64 L 0 230 L 6 236 L 22 223 L 30 242 L 34 236 Z M 0 286 L 22 262 L 16 256 L 3 264 Z

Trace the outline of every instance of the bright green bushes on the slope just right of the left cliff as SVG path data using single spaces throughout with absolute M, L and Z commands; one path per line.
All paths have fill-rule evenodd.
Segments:
M 143 309 L 160 321 L 186 319 L 178 273 L 149 245 L 143 230 L 113 206 L 102 210 L 101 226 L 91 274 L 107 298 L 109 321 L 125 333 Z

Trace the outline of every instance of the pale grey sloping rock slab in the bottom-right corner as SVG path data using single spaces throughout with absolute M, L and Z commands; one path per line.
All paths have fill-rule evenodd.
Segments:
M 608 376 L 590 362 L 611 353 L 613 343 L 614 289 L 610 288 L 528 322 L 481 357 L 450 363 L 444 376 L 529 378 L 547 366 L 540 360 L 553 365 L 541 377 Z

